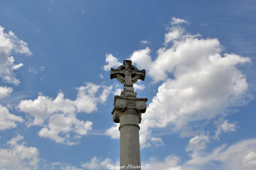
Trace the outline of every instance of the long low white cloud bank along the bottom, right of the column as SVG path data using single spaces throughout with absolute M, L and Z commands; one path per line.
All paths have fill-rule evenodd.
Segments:
M 208 140 L 208 135 L 202 134 L 196 140 Z M 193 140 L 195 141 L 195 139 Z M 193 142 L 192 141 L 192 142 Z M 196 142 L 199 144 L 200 142 Z M 193 147 L 198 149 L 198 147 Z M 204 148 L 204 147 L 203 147 Z M 191 158 L 183 163 L 180 157 L 169 155 L 164 161 L 151 158 L 142 165 L 149 164 L 148 169 L 162 170 L 214 170 L 214 169 L 232 169 L 232 170 L 254 170 L 256 168 L 256 139 L 246 139 L 234 143 L 231 146 L 226 144 L 215 148 L 211 152 L 206 152 L 200 148 L 196 154 L 191 154 Z

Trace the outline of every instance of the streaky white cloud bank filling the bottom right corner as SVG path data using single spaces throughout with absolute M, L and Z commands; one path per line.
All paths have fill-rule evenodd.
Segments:
M 186 163 L 186 166 L 196 169 L 205 169 L 213 165 L 216 169 L 256 169 L 256 139 L 242 140 L 228 148 L 222 145 L 211 153 L 200 152 L 192 155 Z

